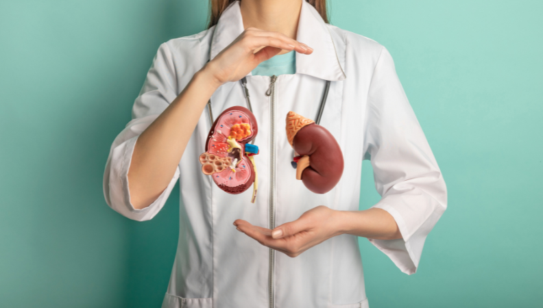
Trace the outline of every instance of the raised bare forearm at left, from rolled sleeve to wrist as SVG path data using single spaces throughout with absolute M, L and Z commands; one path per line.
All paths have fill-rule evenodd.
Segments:
M 138 137 L 128 171 L 134 208 L 147 207 L 165 190 L 208 99 L 218 86 L 205 69 L 200 70 Z

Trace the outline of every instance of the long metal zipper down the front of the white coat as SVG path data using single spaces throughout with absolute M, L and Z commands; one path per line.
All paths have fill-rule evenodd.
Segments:
M 271 121 L 271 132 L 272 132 L 272 142 L 270 144 L 270 170 L 269 170 L 269 229 L 274 229 L 275 227 L 275 180 L 276 180 L 276 157 L 275 157 L 275 145 L 276 145 L 276 136 L 275 136 L 275 83 L 277 81 L 277 76 L 273 75 L 269 82 L 269 88 L 266 91 L 266 96 L 270 97 L 270 121 Z M 269 308 L 274 308 L 274 263 L 275 263 L 275 251 L 272 248 L 269 248 Z

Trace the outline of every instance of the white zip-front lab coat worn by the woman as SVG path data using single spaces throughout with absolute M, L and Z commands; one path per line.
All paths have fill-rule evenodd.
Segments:
M 250 203 L 252 189 L 227 194 L 202 173 L 198 156 L 204 152 L 211 125 L 207 110 L 200 116 L 165 191 L 145 209 L 134 209 L 130 203 L 127 175 L 138 136 L 193 74 L 242 31 L 239 3 L 235 2 L 215 27 L 160 45 L 134 103 L 133 120 L 112 144 L 104 174 L 106 201 L 123 216 L 149 220 L 180 181 L 178 250 L 162 307 L 368 307 L 356 236 L 336 236 L 291 258 L 274 251 L 270 255 L 269 248 L 232 225 L 241 218 L 273 227 L 269 225 L 272 216 L 278 226 L 317 205 L 357 210 L 362 161 L 370 159 L 376 189 L 383 196 L 374 207 L 394 217 L 403 237 L 370 242 L 402 272 L 413 274 L 426 235 L 446 209 L 442 173 L 387 49 L 374 40 L 327 25 L 305 1 L 297 39 L 313 47 L 313 54 L 296 54 L 296 73 L 280 75 L 272 97 L 265 96 L 270 77 L 247 77 L 259 129 L 255 141 L 260 147 L 255 156 L 256 203 Z M 325 80 L 332 82 L 321 125 L 339 142 L 345 170 L 333 190 L 314 194 L 295 179 L 285 117 L 291 110 L 314 117 Z M 215 116 L 233 105 L 246 106 L 239 82 L 221 86 L 211 101 Z M 270 187 L 272 179 L 274 189 Z

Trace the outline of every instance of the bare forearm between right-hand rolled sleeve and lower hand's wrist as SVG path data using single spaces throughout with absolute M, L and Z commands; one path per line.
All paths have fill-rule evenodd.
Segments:
M 376 240 L 402 238 L 396 220 L 384 209 L 363 211 L 336 211 L 337 229 L 340 234 L 351 234 Z

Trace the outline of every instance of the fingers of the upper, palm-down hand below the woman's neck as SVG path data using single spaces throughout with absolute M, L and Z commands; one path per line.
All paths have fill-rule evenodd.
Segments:
M 263 31 L 256 28 L 247 28 L 243 32 L 243 38 L 245 44 L 248 45 L 248 48 L 251 50 L 258 49 L 259 47 L 269 46 L 276 47 L 279 49 L 285 50 L 295 50 L 298 53 L 303 53 L 309 55 L 313 52 L 311 47 L 293 40 L 285 34 L 274 32 L 274 31 Z

